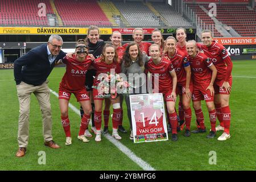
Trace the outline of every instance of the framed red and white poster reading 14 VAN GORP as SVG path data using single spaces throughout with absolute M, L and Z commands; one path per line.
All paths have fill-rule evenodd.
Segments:
M 134 143 L 168 140 L 162 93 L 130 97 Z

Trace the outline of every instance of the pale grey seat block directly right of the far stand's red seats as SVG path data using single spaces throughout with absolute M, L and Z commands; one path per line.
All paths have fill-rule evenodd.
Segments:
M 155 14 L 143 5 L 142 2 L 117 2 L 114 5 L 119 9 L 123 17 L 134 27 L 159 27 L 159 20 Z

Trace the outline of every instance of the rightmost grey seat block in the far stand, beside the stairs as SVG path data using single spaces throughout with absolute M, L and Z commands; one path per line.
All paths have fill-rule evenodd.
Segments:
M 188 22 L 183 16 L 171 9 L 171 6 L 165 3 L 151 3 L 152 6 L 171 24 L 175 27 L 191 27 L 191 23 Z

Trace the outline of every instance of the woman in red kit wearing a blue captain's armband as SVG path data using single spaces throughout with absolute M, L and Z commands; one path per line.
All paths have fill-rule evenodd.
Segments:
M 176 39 L 173 36 L 169 36 L 166 39 L 166 54 L 163 55 L 164 58 L 171 61 L 174 65 L 174 69 L 177 75 L 177 87 L 176 94 L 181 95 L 182 104 L 185 115 L 185 125 L 186 130 L 184 133 L 185 137 L 189 137 L 190 134 L 190 123 L 191 123 L 191 107 L 190 101 L 193 92 L 193 84 L 191 81 L 191 68 L 187 60 L 187 55 L 183 52 L 177 50 Z M 181 129 L 182 130 L 182 129 Z

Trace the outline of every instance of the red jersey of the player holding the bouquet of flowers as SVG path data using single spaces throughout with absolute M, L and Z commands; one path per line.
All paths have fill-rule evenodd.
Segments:
M 101 57 L 92 62 L 93 67 L 96 69 L 96 78 L 100 73 L 110 73 L 110 69 L 115 69 L 115 73 L 117 74 L 121 72 L 121 64 L 114 62 L 112 64 L 106 64 L 105 61 L 100 61 L 100 59 Z M 97 85 L 96 79 L 94 79 L 93 85 Z

